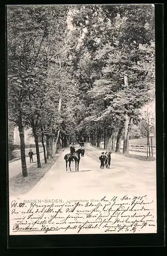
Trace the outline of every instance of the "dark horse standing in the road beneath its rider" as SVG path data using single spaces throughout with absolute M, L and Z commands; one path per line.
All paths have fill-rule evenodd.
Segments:
M 79 172 L 79 162 L 80 162 L 80 155 L 83 157 L 85 154 L 85 150 L 84 148 L 79 148 L 79 150 L 77 150 L 76 152 L 74 152 L 73 154 L 69 153 L 69 154 L 66 154 L 64 156 L 64 159 L 65 159 L 65 162 L 66 162 L 66 172 L 67 172 L 67 162 L 69 162 L 69 170 L 71 172 L 71 168 L 70 168 L 70 165 L 71 165 L 71 161 L 74 159 L 75 160 L 75 163 L 76 163 L 76 172 L 78 170 Z

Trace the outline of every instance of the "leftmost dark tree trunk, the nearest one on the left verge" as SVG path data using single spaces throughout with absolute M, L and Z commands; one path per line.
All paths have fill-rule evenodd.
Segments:
M 18 131 L 20 136 L 20 155 L 21 155 L 22 176 L 27 177 L 28 173 L 27 173 L 26 154 L 25 154 L 25 132 L 22 125 L 21 115 L 18 122 Z

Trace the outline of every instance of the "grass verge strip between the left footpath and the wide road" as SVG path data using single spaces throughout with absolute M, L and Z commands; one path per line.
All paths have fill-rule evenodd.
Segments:
M 57 161 L 61 153 L 61 150 L 54 158 L 47 159 L 47 163 L 44 163 L 44 159 L 41 160 L 41 168 L 37 168 L 33 165 L 28 169 L 28 177 L 24 178 L 22 173 L 14 176 L 9 180 L 9 195 L 15 196 L 19 194 L 26 194 L 30 189 L 32 189 L 37 182 L 47 173 L 47 171 L 52 167 L 52 165 Z

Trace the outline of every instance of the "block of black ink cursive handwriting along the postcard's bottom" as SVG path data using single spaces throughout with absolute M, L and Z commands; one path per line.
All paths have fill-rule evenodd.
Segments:
M 95 201 L 41 205 L 13 200 L 10 203 L 12 233 L 137 233 L 146 228 L 156 230 L 153 200 L 148 200 L 147 195 L 104 196 Z

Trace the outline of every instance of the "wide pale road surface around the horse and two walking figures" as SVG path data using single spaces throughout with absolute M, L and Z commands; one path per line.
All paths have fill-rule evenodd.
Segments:
M 110 169 L 101 169 L 101 152 L 86 144 L 79 172 L 75 172 L 75 163 L 71 163 L 72 172 L 66 173 L 63 158 L 69 153 L 67 148 L 27 196 L 35 199 L 41 196 L 70 199 L 90 195 L 96 198 L 97 195 L 110 193 L 132 193 L 134 196 L 151 193 L 156 197 L 156 161 L 141 161 L 112 153 Z

